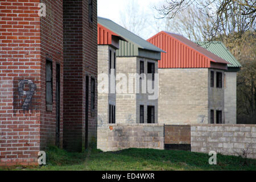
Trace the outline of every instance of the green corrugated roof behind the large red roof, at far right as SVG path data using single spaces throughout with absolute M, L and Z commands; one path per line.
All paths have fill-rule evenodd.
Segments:
M 238 60 L 232 55 L 232 53 L 225 47 L 225 45 L 222 42 L 218 42 L 218 41 L 213 41 L 212 43 L 197 42 L 197 44 L 199 44 L 201 47 L 207 49 L 208 51 L 214 53 L 215 55 L 231 63 L 231 64 L 228 64 L 229 68 L 241 67 L 241 64 L 238 62 Z

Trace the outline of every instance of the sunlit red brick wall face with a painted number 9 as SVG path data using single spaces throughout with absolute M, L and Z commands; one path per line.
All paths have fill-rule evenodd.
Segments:
M 38 2 L 0 2 L 0 165 L 37 164 L 42 94 Z M 18 98 L 18 82 L 24 79 L 37 88 L 28 110 Z

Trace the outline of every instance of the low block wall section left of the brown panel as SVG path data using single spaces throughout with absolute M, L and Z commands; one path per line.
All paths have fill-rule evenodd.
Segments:
M 158 124 L 109 124 L 98 127 L 97 148 L 117 151 L 125 148 L 164 149 L 164 126 Z

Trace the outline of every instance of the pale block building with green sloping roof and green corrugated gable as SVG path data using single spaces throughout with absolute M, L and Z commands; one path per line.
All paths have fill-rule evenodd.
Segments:
M 154 94 L 158 94 L 158 86 L 155 87 L 155 93 L 151 94 L 147 92 L 147 90 L 146 92 L 142 92 L 142 82 L 150 79 L 153 80 L 152 84 L 155 83 L 154 73 L 158 73 L 158 60 L 161 56 L 160 53 L 163 52 L 162 49 L 148 43 L 146 40 L 119 26 L 112 20 L 98 17 L 98 26 L 105 27 L 113 32 L 113 35 L 115 34 L 125 39 L 119 40 L 119 49 L 115 51 L 108 48 L 109 52 L 105 51 L 105 55 L 101 55 L 105 57 L 105 61 L 110 60 L 110 57 L 114 59 L 112 60 L 112 64 L 115 64 L 113 68 L 115 69 L 116 83 L 115 94 L 110 94 L 109 96 L 113 99 L 113 106 L 109 106 L 109 108 L 114 107 L 113 113 L 110 111 L 112 109 L 109 109 L 109 115 L 113 114 L 114 121 L 111 119 L 107 121 L 106 117 L 104 121 L 100 121 L 103 118 L 99 112 L 98 124 L 99 122 L 158 123 L 158 97 L 152 99 L 150 97 L 153 97 Z M 98 36 L 100 36 L 100 34 L 98 34 Z M 104 51 L 99 49 L 98 52 L 102 53 Z M 109 56 L 110 52 L 112 52 L 112 56 Z M 110 62 L 111 61 L 109 61 L 109 63 Z M 100 67 L 100 65 L 98 66 Z M 105 72 L 110 73 L 110 69 L 108 68 L 105 64 L 104 68 L 98 68 L 98 72 L 102 73 L 100 70 L 105 69 Z M 133 77 L 135 74 L 140 76 L 143 73 L 146 74 L 146 76 Z M 119 78 L 120 76 L 124 77 Z M 155 79 L 157 79 L 157 77 Z M 122 83 L 121 80 L 125 81 L 122 86 L 120 86 Z M 158 80 L 156 80 L 156 82 L 157 81 Z M 122 92 L 118 92 L 117 89 L 120 89 Z

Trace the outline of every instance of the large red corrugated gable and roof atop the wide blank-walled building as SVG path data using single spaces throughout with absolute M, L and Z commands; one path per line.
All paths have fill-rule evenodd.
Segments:
M 159 68 L 210 68 L 211 62 L 229 64 L 181 35 L 162 31 L 147 41 L 166 51 L 162 53 Z

